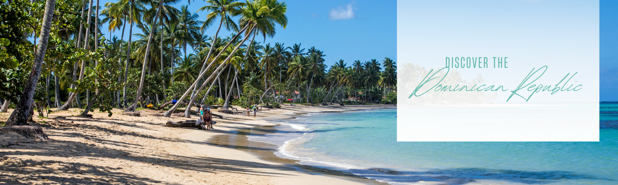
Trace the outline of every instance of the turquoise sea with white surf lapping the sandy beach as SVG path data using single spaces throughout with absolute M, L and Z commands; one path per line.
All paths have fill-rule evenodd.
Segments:
M 396 142 L 396 111 L 310 113 L 248 137 L 389 184 L 618 184 L 618 102 L 600 104 L 600 142 Z

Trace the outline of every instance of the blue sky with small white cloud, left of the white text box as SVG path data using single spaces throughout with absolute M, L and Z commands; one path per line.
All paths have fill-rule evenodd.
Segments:
M 100 1 L 101 6 L 106 2 Z M 96 1 L 95 1 L 96 3 Z M 362 62 L 371 59 L 383 60 L 390 57 L 396 61 L 397 54 L 397 2 L 396 1 L 286 1 L 289 23 L 286 29 L 277 28 L 274 38 L 266 38 L 266 43 L 285 43 L 292 46 L 302 43 L 302 47 L 324 51 L 325 64 L 332 65 L 343 59 L 348 65 L 354 60 Z M 186 5 L 180 1 L 176 7 Z M 192 12 L 205 6 L 204 1 L 192 1 L 189 9 Z M 198 12 L 200 20 L 205 20 L 207 12 Z M 236 20 L 236 19 L 235 19 Z M 224 30 L 224 29 L 222 29 Z M 128 39 L 128 31 L 125 38 Z M 137 28 L 133 32 L 140 33 Z M 206 30 L 205 34 L 212 36 L 216 26 Z M 108 26 L 104 25 L 102 32 L 109 35 Z M 225 37 L 229 32 L 221 31 Z M 112 35 L 120 37 L 121 31 Z M 135 38 L 134 38 L 135 39 Z M 264 42 L 261 38 L 256 41 Z M 307 51 L 305 49 L 305 52 Z

